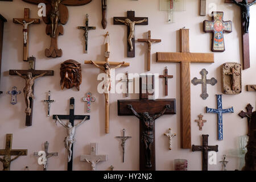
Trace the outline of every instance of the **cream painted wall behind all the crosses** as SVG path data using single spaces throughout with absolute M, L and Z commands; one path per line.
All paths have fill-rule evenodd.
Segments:
M 215 94 L 221 94 L 220 66 L 228 61 L 241 63 L 241 18 L 240 10 L 234 5 L 224 4 L 224 0 L 208 0 L 209 3 L 216 3 L 217 11 L 224 11 L 224 20 L 232 20 L 233 32 L 225 34 L 226 51 L 224 53 L 214 53 L 214 64 L 191 64 L 191 78 L 200 77 L 201 69 L 206 68 L 208 77 L 215 77 L 218 82 L 215 86 L 208 86 L 209 97 L 202 100 L 200 97 L 201 86 L 191 84 L 191 129 L 192 144 L 202 144 L 202 134 L 209 134 L 209 144 L 218 144 L 217 165 L 209 165 L 209 170 L 221 170 L 223 154 L 228 154 L 230 149 L 238 148 L 238 137 L 247 133 L 246 119 L 238 117 L 240 110 L 250 102 L 255 107 L 255 93 L 246 92 L 247 84 L 255 84 L 254 76 L 256 69 L 256 6 L 251 7 L 250 24 L 250 59 L 251 68 L 242 71 L 242 93 L 237 96 L 222 96 L 223 107 L 234 107 L 234 114 L 224 114 L 224 140 L 217 140 L 217 115 L 206 114 L 205 106 L 217 107 Z M 11 163 L 11 170 L 23 170 L 28 166 L 30 170 L 42 170 L 42 166 L 37 163 L 38 158 L 33 155 L 34 151 L 43 150 L 43 143 L 46 140 L 50 143 L 49 151 L 59 152 L 59 156 L 49 159 L 49 170 L 67 169 L 67 152 L 64 149 L 63 140 L 65 130 L 60 125 L 56 126 L 51 117 L 46 117 L 47 107 L 42 100 L 47 98 L 48 90 L 52 92 L 52 98 L 56 100 L 51 105 L 51 114 L 68 114 L 69 98 L 75 97 L 75 114 L 86 113 L 86 104 L 82 101 L 85 93 L 90 91 L 96 97 L 96 102 L 92 104 L 91 119 L 86 121 L 77 129 L 76 143 L 74 144 L 73 170 L 90 170 L 90 165 L 80 162 L 80 155 L 89 154 L 90 143 L 98 143 L 98 154 L 108 154 L 108 162 L 97 164 L 98 170 L 109 170 L 110 165 L 114 170 L 138 170 L 139 169 L 139 121 L 135 117 L 119 117 L 117 115 L 117 100 L 138 99 L 138 94 L 112 94 L 110 96 L 110 133 L 105 134 L 105 114 L 104 95 L 97 93 L 96 81 L 100 71 L 90 65 L 84 65 L 84 60 L 104 60 L 104 34 L 110 32 L 110 60 L 127 61 L 129 68 L 120 68 L 116 73 L 143 73 L 146 71 L 147 47 L 144 43 L 135 43 L 135 57 L 126 57 L 126 26 L 114 26 L 113 16 L 126 16 L 127 10 L 134 10 L 136 16 L 147 16 L 148 26 L 136 26 L 135 38 L 146 38 L 147 31 L 151 30 L 151 36 L 155 39 L 162 39 L 162 43 L 152 46 L 151 72 L 162 75 L 165 66 L 168 73 L 174 78 L 168 81 L 168 97 L 164 96 L 164 81 L 159 80 L 159 98 L 176 98 L 177 114 L 164 115 L 156 122 L 156 170 L 174 170 L 174 159 L 187 159 L 189 170 L 201 170 L 201 152 L 192 152 L 188 149 L 180 148 L 180 66 L 179 64 L 161 64 L 155 61 L 157 51 L 178 52 L 179 34 L 182 27 L 190 29 L 190 49 L 191 52 L 211 52 L 211 34 L 203 32 L 203 20 L 210 20 L 209 16 L 199 16 L 199 1 L 187 1 L 187 11 L 175 13 L 175 22 L 167 23 L 167 13 L 159 11 L 159 0 L 109 0 L 108 1 L 108 27 L 103 30 L 101 27 L 101 1 L 93 0 L 85 6 L 68 6 L 69 20 L 64 27 L 64 35 L 59 36 L 59 48 L 63 49 L 63 56 L 57 59 L 49 59 L 44 56 L 44 49 L 49 47 L 49 37 L 45 34 L 46 24 L 30 26 L 30 56 L 36 57 L 36 69 L 53 69 L 55 76 L 39 78 L 35 83 L 34 118 L 32 126 L 24 126 L 24 98 L 23 93 L 18 96 L 18 104 L 10 104 L 10 96 L 6 94 L 13 86 L 23 90 L 24 81 L 16 76 L 9 76 L 9 69 L 27 69 L 28 66 L 22 61 L 22 26 L 13 23 L 13 18 L 23 17 L 25 7 L 30 8 L 32 18 L 38 18 L 38 8 L 35 5 L 20 0 L 13 2 L 0 2 L 0 13 L 5 16 L 5 30 L 3 35 L 2 71 L 0 88 L 4 94 L 0 96 L 0 148 L 5 147 L 7 133 L 13 133 L 13 148 L 27 148 L 28 155 L 21 156 Z M 207 11 L 209 9 L 207 8 Z M 89 32 L 88 54 L 83 53 L 83 32 L 77 29 L 85 21 L 86 13 L 89 14 L 89 26 L 96 26 L 95 31 Z M 41 18 L 42 20 L 42 18 Z M 60 89 L 60 64 L 68 59 L 74 59 L 82 64 L 82 84 L 80 92 L 73 89 Z M 207 123 L 203 131 L 199 131 L 197 115 L 204 114 Z M 172 127 L 177 133 L 173 139 L 172 151 L 168 150 L 168 139 L 163 133 Z M 126 142 L 125 163 L 122 163 L 121 142 L 114 138 L 122 134 L 122 129 L 126 129 L 126 134 L 132 136 Z M 237 158 L 228 156 L 228 170 L 238 168 Z M 2 166 L 0 167 L 2 169 Z

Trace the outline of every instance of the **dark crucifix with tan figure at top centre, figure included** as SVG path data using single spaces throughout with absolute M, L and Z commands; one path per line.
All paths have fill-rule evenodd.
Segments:
M 127 17 L 114 17 L 114 24 L 127 26 L 127 57 L 135 57 L 135 25 L 147 25 L 147 17 L 135 17 L 135 11 L 127 11 Z

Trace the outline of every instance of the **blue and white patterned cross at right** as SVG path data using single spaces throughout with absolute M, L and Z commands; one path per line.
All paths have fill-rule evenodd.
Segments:
M 222 123 L 222 114 L 225 113 L 234 113 L 233 107 L 229 109 L 222 109 L 222 95 L 216 94 L 217 96 L 217 109 L 211 109 L 206 107 L 207 113 L 218 114 L 218 140 L 223 140 L 223 123 Z

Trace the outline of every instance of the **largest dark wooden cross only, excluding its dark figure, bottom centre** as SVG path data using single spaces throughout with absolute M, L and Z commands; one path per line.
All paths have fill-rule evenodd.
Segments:
M 159 99 L 149 100 L 149 96 L 154 96 L 154 76 L 141 76 L 140 78 L 140 94 L 139 100 L 118 100 L 118 115 L 134 115 L 127 105 L 133 106 L 137 113 L 142 114 L 147 112 L 150 116 L 159 114 L 164 106 L 170 105 L 171 108 L 166 110 L 164 114 L 176 114 L 176 100 L 173 99 Z M 153 123 L 153 137 L 155 138 L 155 122 Z M 139 138 L 143 137 L 144 127 L 143 121 L 139 122 Z M 144 142 L 139 142 L 139 169 L 141 171 L 155 171 L 155 140 L 151 143 L 151 168 L 146 167 L 146 148 Z

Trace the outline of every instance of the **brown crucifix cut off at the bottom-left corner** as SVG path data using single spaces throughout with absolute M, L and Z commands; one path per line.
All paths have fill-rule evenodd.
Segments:
M 17 159 L 21 155 L 27 155 L 27 149 L 12 149 L 13 134 L 6 134 L 5 149 L 0 150 L 0 155 L 4 155 L 0 158 L 0 162 L 3 163 L 3 171 L 10 171 L 11 162 Z M 12 155 L 16 155 L 11 159 Z

